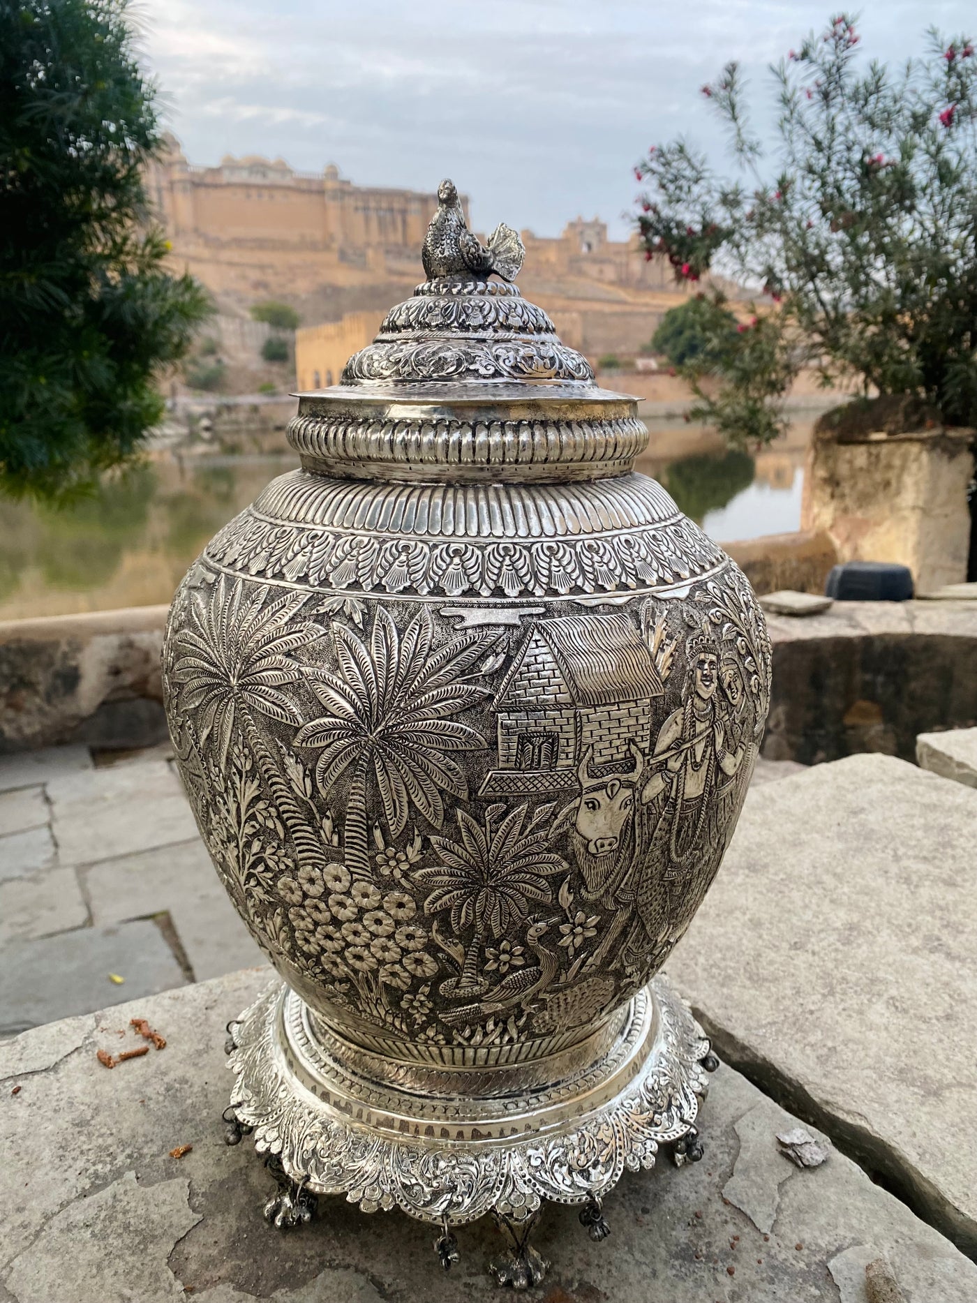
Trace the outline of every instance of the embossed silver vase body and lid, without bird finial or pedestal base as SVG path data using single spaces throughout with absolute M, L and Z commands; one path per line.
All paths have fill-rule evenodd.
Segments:
M 770 650 L 740 571 L 633 472 L 645 439 L 512 287 L 432 279 L 300 396 L 301 469 L 173 602 L 215 868 L 374 1067 L 504 1093 L 599 1057 L 715 876 Z

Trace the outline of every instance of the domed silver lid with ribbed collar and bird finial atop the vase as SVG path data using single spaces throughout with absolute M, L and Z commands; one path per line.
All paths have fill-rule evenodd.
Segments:
M 429 279 L 339 384 L 298 395 L 288 440 L 302 465 L 457 482 L 629 472 L 647 443 L 637 400 L 598 388 L 586 358 L 511 283 L 525 254 L 518 235 L 500 224 L 483 245 L 451 181 L 438 199 L 422 249 Z

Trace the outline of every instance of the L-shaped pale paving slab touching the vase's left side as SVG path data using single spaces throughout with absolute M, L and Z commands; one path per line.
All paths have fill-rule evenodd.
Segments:
M 167 911 L 198 981 L 263 963 L 197 838 L 82 873 L 95 925 Z

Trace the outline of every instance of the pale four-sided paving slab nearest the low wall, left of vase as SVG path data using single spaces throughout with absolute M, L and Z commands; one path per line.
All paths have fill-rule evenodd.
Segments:
M 197 837 L 180 779 L 164 760 L 47 784 L 61 864 L 87 864 Z

